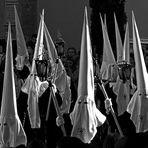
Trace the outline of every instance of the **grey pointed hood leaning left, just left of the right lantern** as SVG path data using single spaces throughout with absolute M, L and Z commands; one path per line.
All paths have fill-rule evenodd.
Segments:
M 100 15 L 100 19 L 101 19 L 102 32 L 103 32 L 103 60 L 102 60 L 100 72 L 102 75 L 102 79 L 109 80 L 111 78 L 110 66 L 113 64 L 116 64 L 116 61 L 115 61 L 112 47 L 107 34 L 107 30 L 106 30 L 107 28 L 103 24 L 101 15 Z

